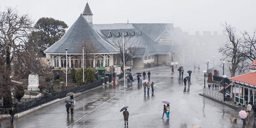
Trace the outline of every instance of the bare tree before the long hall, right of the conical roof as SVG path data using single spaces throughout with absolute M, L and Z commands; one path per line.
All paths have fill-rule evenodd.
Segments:
M 127 61 L 130 61 L 133 59 L 133 56 L 135 56 L 139 50 L 140 44 L 135 41 L 133 37 L 124 37 L 124 40 L 122 37 L 117 37 L 112 40 L 112 43 L 114 46 L 119 50 L 119 57 L 122 60 L 122 66 L 123 66 L 123 47 L 124 47 L 124 61 L 125 64 Z

